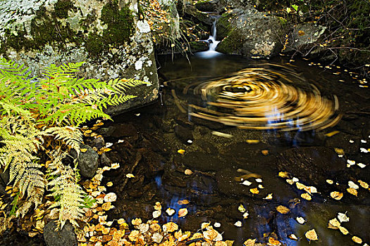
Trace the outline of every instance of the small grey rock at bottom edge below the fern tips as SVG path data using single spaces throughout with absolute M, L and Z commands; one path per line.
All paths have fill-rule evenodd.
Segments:
M 58 228 L 54 221 L 50 221 L 44 227 L 44 240 L 47 246 L 75 246 L 77 245 L 77 239 L 74 232 L 74 228 L 69 221 L 63 226 L 62 230 L 56 231 Z

